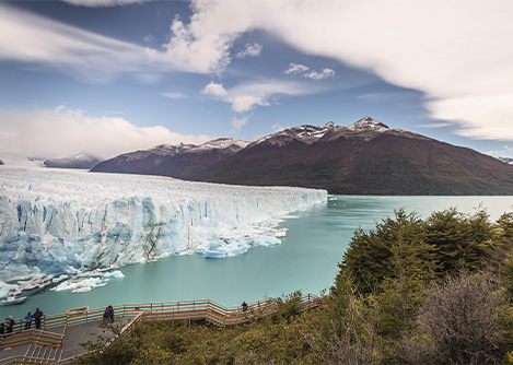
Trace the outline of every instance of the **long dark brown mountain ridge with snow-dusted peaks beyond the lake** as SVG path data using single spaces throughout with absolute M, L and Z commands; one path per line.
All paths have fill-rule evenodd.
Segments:
M 219 141 L 233 148 L 219 148 Z M 470 149 L 390 129 L 370 117 L 347 127 L 328 122 L 289 128 L 249 144 L 221 139 L 167 149 L 176 152 L 161 153 L 158 161 L 153 150 L 138 151 L 132 153 L 137 163 L 125 154 L 93 170 L 301 186 L 343 195 L 513 193 L 512 166 Z

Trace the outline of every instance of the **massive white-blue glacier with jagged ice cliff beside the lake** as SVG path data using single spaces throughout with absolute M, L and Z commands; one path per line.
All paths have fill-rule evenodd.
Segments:
M 58 284 L 63 274 L 170 255 L 229 257 L 276 245 L 285 234 L 276 228 L 281 216 L 327 201 L 325 190 L 48 169 L 40 162 L 2 160 L 3 297 L 14 281 L 20 294 Z

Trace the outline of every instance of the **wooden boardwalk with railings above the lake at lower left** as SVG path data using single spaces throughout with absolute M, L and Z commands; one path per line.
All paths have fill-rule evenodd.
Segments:
M 320 298 L 313 294 L 293 297 L 301 310 L 319 306 Z M 116 321 L 124 325 L 120 337 L 130 335 L 141 321 L 206 320 L 219 327 L 245 323 L 256 317 L 279 310 L 279 301 L 263 298 L 249 302 L 246 310 L 241 306 L 224 306 L 211 299 L 167 303 L 121 304 L 114 306 Z M 86 350 L 79 343 L 94 341 L 102 333 L 104 308 L 73 308 L 66 314 L 44 316 L 40 330 L 23 330 L 23 319 L 15 320 L 14 332 L 0 338 L 0 365 L 8 364 L 72 364 Z M 93 333 L 91 335 L 90 333 Z M 115 338 L 110 340 L 114 341 Z M 108 342 L 106 346 L 110 343 Z

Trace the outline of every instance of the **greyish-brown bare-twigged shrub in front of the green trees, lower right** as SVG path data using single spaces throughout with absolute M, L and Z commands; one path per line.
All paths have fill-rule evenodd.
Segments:
M 404 340 L 412 364 L 489 364 L 504 342 L 499 309 L 503 293 L 490 274 L 450 275 L 427 293 L 417 329 Z

